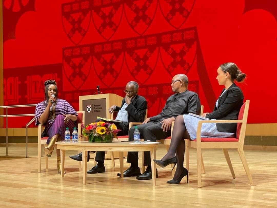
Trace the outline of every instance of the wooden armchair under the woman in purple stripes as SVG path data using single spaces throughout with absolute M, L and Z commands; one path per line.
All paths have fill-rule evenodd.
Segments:
M 76 123 L 78 124 L 78 138 L 81 135 L 81 124 L 84 123 L 84 115 L 85 112 L 84 111 L 77 111 L 78 116 L 77 116 L 77 121 Z M 39 128 L 38 128 L 38 172 L 41 172 L 41 145 L 44 145 L 45 147 L 47 146 L 46 141 L 48 139 L 47 137 L 41 137 L 41 134 L 43 132 L 43 125 L 39 124 Z M 44 151 L 43 151 L 44 152 Z M 48 157 L 46 156 L 47 153 L 45 153 L 45 165 L 46 168 L 48 168 Z M 80 170 L 80 164 L 81 162 L 79 162 L 79 170 Z

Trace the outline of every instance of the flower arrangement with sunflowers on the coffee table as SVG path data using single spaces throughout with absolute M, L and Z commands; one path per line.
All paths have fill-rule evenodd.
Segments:
M 99 136 L 102 139 L 105 135 L 113 135 L 117 138 L 117 133 L 120 131 L 113 123 L 105 123 L 104 121 L 98 121 L 90 123 L 86 126 L 82 125 L 84 136 Z

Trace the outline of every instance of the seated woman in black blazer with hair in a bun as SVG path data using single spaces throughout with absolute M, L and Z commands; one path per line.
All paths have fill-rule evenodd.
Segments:
M 234 63 L 221 64 L 217 69 L 216 79 L 219 85 L 224 85 L 225 88 L 216 101 L 214 111 L 204 113 L 202 116 L 210 120 L 238 119 L 238 113 L 244 97 L 241 89 L 235 85 L 234 81 L 243 82 L 245 77 L 246 75 Z M 199 120 L 201 119 L 190 115 L 177 116 L 168 153 L 161 160 L 154 160 L 161 167 L 178 163 L 173 179 L 167 181 L 167 183 L 178 184 L 184 176 L 187 176 L 188 180 L 188 170 L 183 165 L 186 147 L 183 138 L 196 139 L 196 129 Z M 237 123 L 204 123 L 201 128 L 201 137 L 234 137 L 236 129 Z

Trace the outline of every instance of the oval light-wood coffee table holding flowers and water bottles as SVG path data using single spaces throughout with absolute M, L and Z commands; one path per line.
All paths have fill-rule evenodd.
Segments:
M 152 168 L 152 181 L 153 186 L 156 186 L 156 163 L 153 159 L 156 159 L 156 150 L 158 142 L 147 142 L 134 144 L 134 142 L 120 142 L 113 141 L 112 143 L 91 143 L 88 141 L 79 141 L 78 143 L 65 143 L 62 141 L 56 142 L 57 149 L 61 150 L 61 177 L 63 177 L 63 171 L 65 167 L 65 150 L 78 150 L 83 154 L 83 184 L 86 184 L 86 171 L 87 171 L 87 158 L 88 151 L 112 151 L 119 152 L 119 164 L 120 174 L 123 178 L 123 152 L 139 152 L 150 151 L 151 154 L 151 168 Z

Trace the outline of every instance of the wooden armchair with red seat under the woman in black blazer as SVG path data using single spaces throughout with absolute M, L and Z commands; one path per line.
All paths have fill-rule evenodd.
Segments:
M 243 143 L 245 137 L 245 129 L 247 123 L 249 100 L 242 105 L 238 114 L 238 120 L 215 120 L 215 121 L 199 121 L 196 131 L 196 139 L 186 139 L 186 168 L 189 170 L 189 148 L 197 149 L 197 183 L 201 187 L 201 149 L 222 149 L 232 177 L 235 179 L 234 169 L 228 154 L 228 149 L 237 149 L 242 165 L 245 169 L 250 185 L 254 186 L 252 176 L 243 151 Z M 238 123 L 235 138 L 201 138 L 201 127 L 203 123 Z

